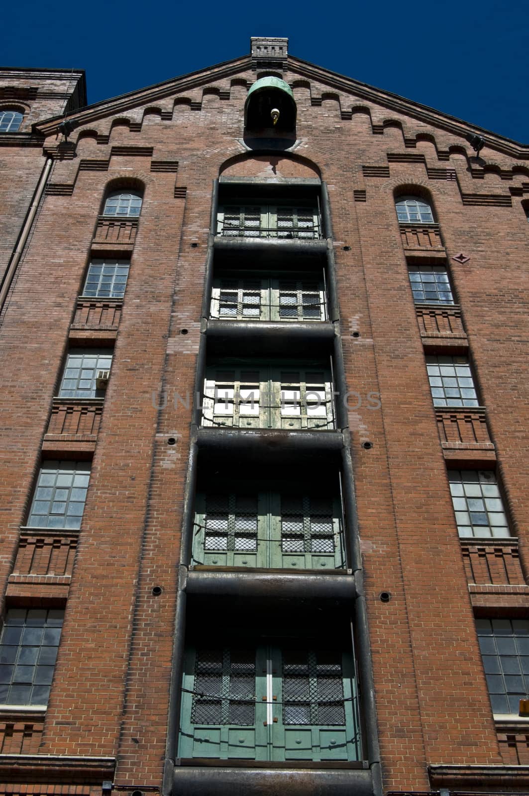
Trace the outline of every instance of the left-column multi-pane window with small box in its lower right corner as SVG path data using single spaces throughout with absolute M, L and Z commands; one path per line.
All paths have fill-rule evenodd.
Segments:
M 111 349 L 75 349 L 69 352 L 60 398 L 103 398 L 104 380 L 112 365 Z

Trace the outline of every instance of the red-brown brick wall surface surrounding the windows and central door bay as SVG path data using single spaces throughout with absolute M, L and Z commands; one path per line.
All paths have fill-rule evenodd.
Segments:
M 291 152 L 253 155 L 241 143 L 256 78 L 249 58 L 163 84 L 156 96 L 140 91 L 127 107 L 74 114 L 75 158 L 57 149 L 45 121 L 58 113 L 51 106 L 36 111 L 40 146 L 0 149 L 13 174 L 10 185 L 0 181 L 0 215 L 17 228 L 42 152 L 54 158 L 0 330 L 0 587 L 9 606 L 66 605 L 45 718 L 6 723 L 3 754 L 116 758 L 116 786 L 162 786 L 210 209 L 221 175 L 327 182 L 355 396 L 347 414 L 384 790 L 427 792 L 437 764 L 528 763 L 523 726 L 495 726 L 473 618 L 474 610 L 529 610 L 527 167 L 511 142 L 492 136 L 478 161 L 465 129 L 441 115 L 406 113 L 382 92 L 288 64 Z M 123 185 L 143 189 L 139 218 L 105 220 L 105 192 Z M 413 193 L 431 202 L 431 228 L 399 224 L 394 197 Z M 6 263 L 14 244 L 13 235 L 2 240 Z M 453 259 L 460 252 L 468 261 Z M 91 253 L 130 256 L 123 300 L 78 299 Z M 414 305 L 407 257 L 448 263 L 455 308 Z M 112 346 L 103 407 L 53 401 L 69 342 Z M 441 355 L 468 351 L 486 416 L 434 410 L 425 344 Z M 374 393 L 379 408 L 367 400 Z M 24 529 L 42 458 L 92 460 L 78 533 Z M 447 464 L 496 466 L 517 544 L 460 542 Z M 6 793 L 40 793 L 34 787 Z M 49 793 L 92 796 L 91 786 L 74 787 Z

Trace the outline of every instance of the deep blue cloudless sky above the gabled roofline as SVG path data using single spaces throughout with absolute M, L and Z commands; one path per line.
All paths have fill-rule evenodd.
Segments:
M 94 103 L 288 36 L 292 55 L 529 142 L 527 0 L 6 3 L 4 66 L 84 68 Z

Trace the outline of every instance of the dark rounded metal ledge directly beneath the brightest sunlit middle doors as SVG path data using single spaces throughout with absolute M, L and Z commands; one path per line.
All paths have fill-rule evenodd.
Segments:
M 198 447 L 232 451 L 341 451 L 341 431 L 284 431 L 276 428 L 199 428 Z

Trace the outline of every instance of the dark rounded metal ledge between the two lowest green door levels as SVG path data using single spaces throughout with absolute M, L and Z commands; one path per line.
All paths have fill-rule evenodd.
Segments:
M 187 594 L 236 597 L 310 597 L 350 600 L 356 597 L 355 576 L 339 572 L 204 572 L 187 573 Z

